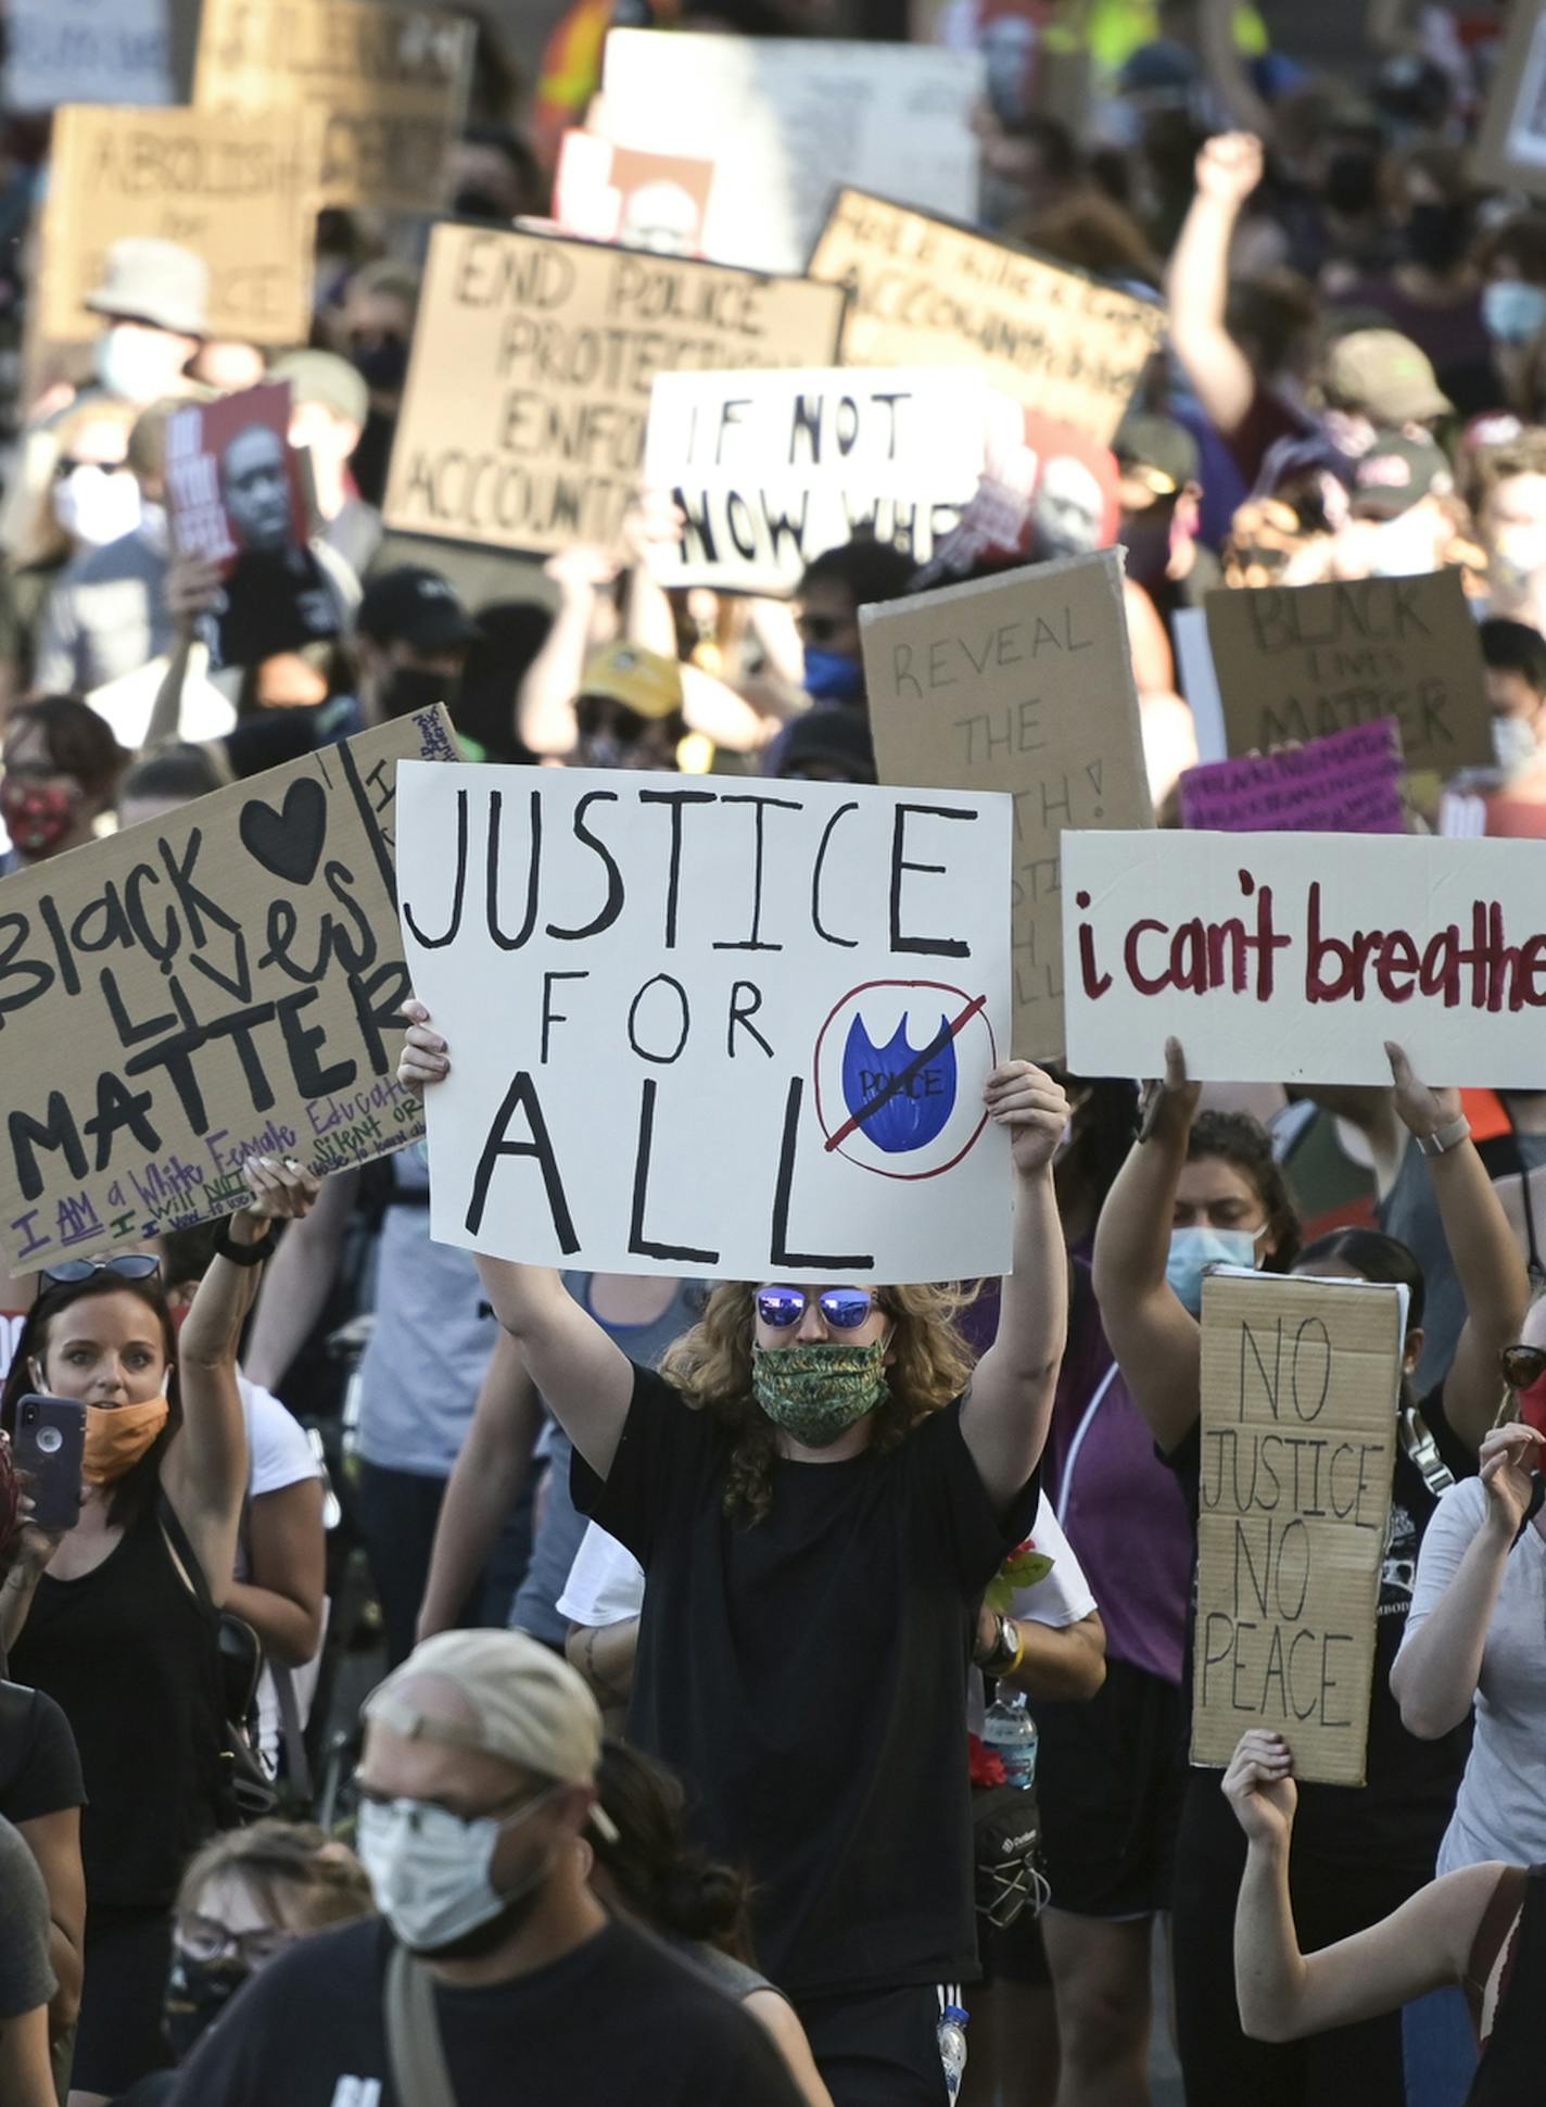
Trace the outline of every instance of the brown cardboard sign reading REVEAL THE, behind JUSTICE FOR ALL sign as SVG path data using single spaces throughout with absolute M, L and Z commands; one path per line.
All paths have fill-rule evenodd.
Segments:
M 1114 550 L 861 607 L 880 782 L 1007 790 L 1013 1051 L 1064 1054 L 1064 828 L 1152 826 Z

